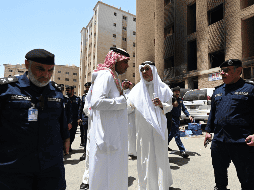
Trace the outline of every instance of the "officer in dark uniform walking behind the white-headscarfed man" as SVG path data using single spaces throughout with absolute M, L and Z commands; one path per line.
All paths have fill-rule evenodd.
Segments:
M 183 146 L 183 143 L 180 139 L 180 131 L 179 131 L 179 126 L 180 126 L 180 116 L 181 116 L 181 110 L 184 112 L 184 114 L 190 118 L 191 122 L 193 122 L 193 118 L 190 116 L 188 110 L 183 104 L 183 100 L 179 98 L 180 96 L 180 87 L 177 86 L 173 88 L 173 109 L 171 111 L 172 114 L 172 125 L 171 125 L 171 130 L 168 135 L 168 143 L 172 140 L 173 137 L 175 137 L 176 144 L 180 150 L 180 155 L 183 158 L 188 158 L 189 155 L 185 152 L 185 148 Z M 169 148 L 169 150 L 172 150 Z

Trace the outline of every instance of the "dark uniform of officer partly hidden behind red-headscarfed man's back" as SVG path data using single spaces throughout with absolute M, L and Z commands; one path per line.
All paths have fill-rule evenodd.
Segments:
M 87 94 L 84 94 L 81 98 L 78 115 L 78 118 L 82 120 L 80 123 L 80 131 L 81 131 L 81 144 L 82 146 L 84 146 L 84 150 L 86 150 L 87 129 L 88 129 L 88 117 L 83 112 L 86 95 Z

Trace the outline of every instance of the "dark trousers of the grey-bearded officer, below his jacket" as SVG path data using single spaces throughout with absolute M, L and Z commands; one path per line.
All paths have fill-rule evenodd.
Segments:
M 63 163 L 40 170 L 38 166 L 31 166 L 34 172 L 0 171 L 1 190 L 64 190 L 66 189 L 65 169 Z

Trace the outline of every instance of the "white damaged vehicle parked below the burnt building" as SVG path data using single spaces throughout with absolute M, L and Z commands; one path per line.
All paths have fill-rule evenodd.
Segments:
M 183 103 L 188 109 L 190 115 L 195 120 L 207 122 L 211 110 L 211 97 L 214 88 L 204 88 L 190 90 L 183 96 Z M 189 118 L 182 112 L 181 119 L 188 120 Z

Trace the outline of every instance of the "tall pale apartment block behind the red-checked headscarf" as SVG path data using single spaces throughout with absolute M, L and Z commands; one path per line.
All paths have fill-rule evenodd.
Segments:
M 135 82 L 136 16 L 120 8 L 98 1 L 93 16 L 81 30 L 79 94 L 91 81 L 97 64 L 103 63 L 110 47 L 125 49 L 130 54 L 129 68 L 120 76 Z

